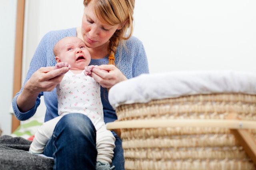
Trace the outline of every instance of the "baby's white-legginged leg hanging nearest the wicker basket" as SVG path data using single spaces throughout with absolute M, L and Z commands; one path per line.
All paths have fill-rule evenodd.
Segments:
M 106 129 L 106 125 L 102 125 L 102 127 L 96 132 L 96 149 L 98 151 L 97 161 L 107 162 L 111 164 L 112 158 L 114 156 L 114 148 L 116 138 L 110 132 L 110 130 Z

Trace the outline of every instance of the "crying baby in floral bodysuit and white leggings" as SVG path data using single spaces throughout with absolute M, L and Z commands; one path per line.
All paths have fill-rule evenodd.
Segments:
M 85 43 L 76 37 L 61 39 L 54 46 L 57 64 L 54 69 L 68 67 L 62 81 L 56 86 L 58 97 L 58 117 L 45 122 L 35 134 L 30 152 L 42 153 L 53 130 L 62 118 L 69 113 L 82 113 L 90 118 L 96 129 L 97 166 L 107 166 L 113 158 L 115 138 L 103 119 L 103 106 L 100 98 L 100 84 L 90 75 L 95 66 L 90 63 L 91 57 Z M 88 67 L 86 67 L 88 66 Z M 86 67 L 86 70 L 84 69 Z M 103 146 L 104 145 L 104 146 Z

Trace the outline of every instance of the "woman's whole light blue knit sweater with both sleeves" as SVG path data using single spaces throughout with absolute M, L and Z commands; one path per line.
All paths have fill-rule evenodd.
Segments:
M 40 67 L 54 66 L 56 64 L 53 47 L 56 42 L 67 36 L 76 36 L 76 28 L 48 32 L 39 43 L 36 52 L 34 53 L 34 56 L 31 60 L 30 68 L 28 70 L 28 74 L 26 76 L 22 89 L 16 94 L 12 102 L 14 114 L 19 120 L 27 120 L 34 115 L 38 105 L 40 104 L 40 96 L 42 95 L 44 95 L 44 102 L 47 108 L 44 121 L 49 121 L 50 119 L 58 116 L 56 89 L 51 92 L 41 92 L 36 99 L 35 106 L 26 113 L 22 113 L 19 111 L 16 101 L 18 95 L 22 92 L 25 83 L 28 81 L 28 79 L 30 79 L 31 75 L 36 70 L 38 70 Z M 142 73 L 148 73 L 148 61 L 144 47 L 140 40 L 135 37 L 131 37 L 129 40 L 124 41 L 122 50 L 120 50 L 120 47 L 118 47 L 115 58 L 116 66 L 128 79 L 136 77 Z M 108 64 L 108 55 L 102 59 L 92 59 L 90 62 L 90 65 L 102 64 Z M 107 89 L 101 87 L 100 93 L 103 104 L 105 123 L 115 121 L 117 117 L 114 109 L 109 104 Z

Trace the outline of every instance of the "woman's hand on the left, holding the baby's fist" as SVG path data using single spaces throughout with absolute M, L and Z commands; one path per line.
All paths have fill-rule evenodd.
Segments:
M 40 93 L 41 91 L 52 91 L 62 80 L 64 74 L 70 67 L 41 67 L 25 84 L 24 89 L 29 89 L 30 93 Z

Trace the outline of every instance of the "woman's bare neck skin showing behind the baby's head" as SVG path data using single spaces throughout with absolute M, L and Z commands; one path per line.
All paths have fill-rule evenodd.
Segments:
M 81 27 L 76 28 L 76 37 L 84 40 L 83 36 L 82 36 L 82 32 L 81 32 Z M 87 48 L 88 51 L 90 52 L 91 58 L 92 59 L 102 59 L 104 58 L 106 55 L 108 55 L 108 43 L 106 42 L 102 45 L 100 45 L 99 47 L 95 47 L 95 48 Z

